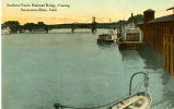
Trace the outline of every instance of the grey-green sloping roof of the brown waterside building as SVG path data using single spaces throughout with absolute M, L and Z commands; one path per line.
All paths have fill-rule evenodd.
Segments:
M 160 23 L 160 22 L 169 22 L 169 21 L 174 21 L 174 14 L 153 19 L 153 20 L 149 21 L 148 23 Z

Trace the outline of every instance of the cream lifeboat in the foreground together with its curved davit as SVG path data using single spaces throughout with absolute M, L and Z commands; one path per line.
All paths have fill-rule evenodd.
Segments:
M 144 75 L 144 87 L 146 92 L 137 93 L 135 95 L 131 95 L 131 83 L 132 78 L 137 74 L 143 74 Z M 129 83 L 129 96 L 127 98 L 124 98 L 123 100 L 114 104 L 107 109 L 149 109 L 152 102 L 152 97 L 149 93 L 147 93 L 147 87 L 149 86 L 149 77 L 148 74 L 144 72 L 137 72 L 135 73 Z

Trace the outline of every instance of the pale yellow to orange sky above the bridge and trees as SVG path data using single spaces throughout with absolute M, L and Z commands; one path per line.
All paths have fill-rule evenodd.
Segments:
M 38 9 L 36 7 L 8 7 L 7 4 L 69 4 L 70 7 L 57 7 L 57 11 L 21 11 L 22 9 Z M 96 22 L 117 22 L 127 20 L 134 14 L 143 14 L 143 11 L 152 9 L 155 17 L 172 14 L 166 11 L 174 7 L 174 0 L 2 0 L 2 20 L 26 22 L 44 22 L 45 24 L 61 23 L 90 23 L 92 17 Z M 44 8 L 51 9 L 51 8 Z

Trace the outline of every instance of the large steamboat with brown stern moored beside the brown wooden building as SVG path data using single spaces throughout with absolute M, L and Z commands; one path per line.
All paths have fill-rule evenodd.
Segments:
M 142 43 L 141 31 L 134 24 L 129 24 L 121 28 L 119 36 L 120 37 L 117 39 L 119 49 L 136 50 Z

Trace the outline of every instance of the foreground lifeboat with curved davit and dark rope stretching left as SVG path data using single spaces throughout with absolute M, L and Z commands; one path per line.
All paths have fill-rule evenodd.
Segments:
M 137 94 L 131 94 L 131 84 L 132 84 L 132 78 L 138 75 L 138 74 L 143 74 L 143 84 L 144 84 L 144 92 L 140 92 Z M 102 106 L 95 106 L 95 107 L 88 107 L 88 108 L 82 108 L 82 107 L 72 107 L 72 106 L 67 106 L 67 105 L 61 105 L 61 104 L 55 104 L 54 107 L 55 109 L 63 109 L 63 108 L 72 108 L 72 109 L 94 109 L 94 108 L 104 108 L 108 106 L 106 109 L 149 109 L 152 102 L 152 97 L 151 95 L 147 92 L 147 87 L 149 86 L 149 76 L 144 72 L 137 72 L 131 75 L 130 77 L 130 83 L 129 83 L 129 96 L 126 98 L 123 98 L 121 100 L 118 101 L 112 101 Z M 141 87 L 141 86 L 140 86 Z M 138 89 L 139 90 L 139 89 Z M 135 92 L 135 90 L 134 90 Z

